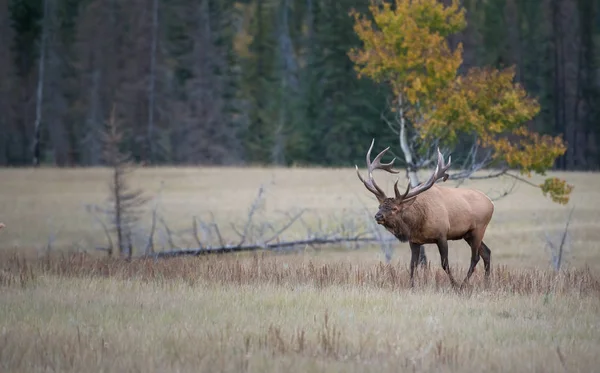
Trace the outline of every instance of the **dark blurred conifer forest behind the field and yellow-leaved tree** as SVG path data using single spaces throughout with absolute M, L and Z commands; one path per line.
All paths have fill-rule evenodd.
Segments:
M 139 162 L 363 164 L 373 137 L 397 146 L 389 88 L 348 57 L 368 5 L 0 0 L 0 165 L 102 164 L 113 105 Z M 542 107 L 531 129 L 567 142 L 556 167 L 598 169 L 600 0 L 462 5 L 463 68 L 516 65 Z

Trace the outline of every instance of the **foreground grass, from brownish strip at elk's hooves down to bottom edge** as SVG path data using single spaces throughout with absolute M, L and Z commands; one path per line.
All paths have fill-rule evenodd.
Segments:
M 4 257 L 2 371 L 592 372 L 600 284 L 251 254 Z M 460 275 L 464 275 L 464 271 Z

